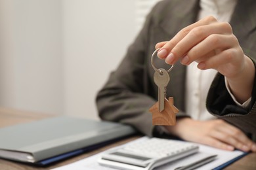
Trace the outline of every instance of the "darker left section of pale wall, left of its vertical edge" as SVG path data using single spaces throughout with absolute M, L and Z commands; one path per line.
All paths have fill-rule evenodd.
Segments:
M 61 1 L 0 0 L 0 106 L 63 112 Z

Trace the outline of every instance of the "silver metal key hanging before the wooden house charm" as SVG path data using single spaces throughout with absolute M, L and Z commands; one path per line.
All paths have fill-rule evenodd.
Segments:
M 169 83 L 170 76 L 169 73 L 165 69 L 158 69 L 154 73 L 154 82 L 158 86 L 158 104 L 159 111 L 163 111 L 165 103 L 165 95 L 166 95 L 166 86 Z

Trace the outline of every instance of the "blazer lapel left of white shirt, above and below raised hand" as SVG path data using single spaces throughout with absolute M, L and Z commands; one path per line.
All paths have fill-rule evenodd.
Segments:
M 176 5 L 176 4 L 177 5 Z M 169 3 L 170 7 L 166 8 L 167 11 L 163 12 L 160 18 L 160 28 L 162 31 L 173 38 L 182 28 L 196 22 L 198 10 L 200 9 L 198 0 L 179 0 L 174 3 Z M 179 4 L 179 5 L 178 5 Z M 166 40 L 167 41 L 167 40 Z M 160 62 L 156 61 L 156 63 Z M 158 63 L 160 64 L 160 63 Z M 161 63 L 163 68 L 168 69 L 168 65 Z M 174 97 L 175 105 L 185 110 L 185 81 L 186 81 L 186 66 L 181 65 L 178 61 L 175 67 L 169 73 L 170 82 L 167 86 L 167 97 Z

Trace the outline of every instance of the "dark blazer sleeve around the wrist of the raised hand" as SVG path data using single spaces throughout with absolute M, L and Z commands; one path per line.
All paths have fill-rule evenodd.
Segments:
M 256 65 L 255 59 L 252 59 Z M 254 79 L 251 103 L 244 109 L 234 102 L 225 87 L 224 76 L 217 74 L 207 95 L 206 107 L 218 118 L 242 129 L 248 137 L 256 141 L 256 78 Z

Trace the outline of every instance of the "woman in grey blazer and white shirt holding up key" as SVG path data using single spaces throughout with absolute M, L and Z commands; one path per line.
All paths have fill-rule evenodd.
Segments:
M 98 92 L 100 118 L 131 124 L 149 136 L 256 152 L 255 9 L 252 0 L 158 3 Z M 148 112 L 158 99 L 150 63 L 156 48 L 159 58 L 175 64 L 166 91 L 180 110 L 175 126 L 152 126 Z M 160 59 L 154 63 L 170 67 Z

